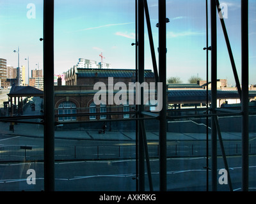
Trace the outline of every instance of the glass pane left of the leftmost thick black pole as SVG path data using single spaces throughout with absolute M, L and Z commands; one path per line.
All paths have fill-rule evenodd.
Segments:
M 43 1 L 1 1 L 0 13 L 0 191 L 41 191 Z

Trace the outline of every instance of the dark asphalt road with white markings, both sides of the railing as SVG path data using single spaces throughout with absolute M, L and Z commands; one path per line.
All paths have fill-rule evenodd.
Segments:
M 0 135 L 0 147 L 6 145 L 42 145 L 42 138 Z M 173 142 L 179 143 L 179 142 Z M 63 140 L 56 145 L 134 145 L 133 142 Z M 189 142 L 186 143 L 188 145 Z M 149 143 L 150 146 L 150 143 Z M 228 156 L 228 166 L 235 191 L 241 191 L 241 156 Z M 211 168 L 211 157 L 209 157 Z M 145 171 L 147 172 L 145 164 Z M 205 191 L 206 158 L 169 157 L 167 159 L 168 191 Z M 159 191 L 159 161 L 150 159 L 154 190 Z M 218 157 L 218 170 L 224 168 L 222 157 Z M 27 170 L 36 172 L 36 184 L 27 184 Z M 256 156 L 250 156 L 250 191 L 256 187 Z M 135 159 L 63 160 L 55 163 L 56 191 L 136 191 Z M 148 177 L 145 173 L 146 191 Z M 218 178 L 220 175 L 218 175 Z M 109 182 L 111 180 L 111 182 Z M 42 161 L 4 162 L 0 164 L 0 191 L 41 191 L 44 189 L 44 163 Z M 211 191 L 211 170 L 209 170 Z M 228 185 L 218 184 L 218 191 L 229 191 Z

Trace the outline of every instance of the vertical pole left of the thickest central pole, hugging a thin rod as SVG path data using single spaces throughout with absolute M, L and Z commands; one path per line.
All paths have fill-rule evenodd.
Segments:
M 138 82 L 144 82 L 144 6 L 143 0 L 138 0 Z M 141 91 L 141 103 L 138 105 L 138 115 L 143 111 L 143 92 Z M 140 122 L 140 121 L 137 121 Z M 139 191 L 145 191 L 145 159 L 143 131 L 138 124 L 138 161 L 139 161 Z

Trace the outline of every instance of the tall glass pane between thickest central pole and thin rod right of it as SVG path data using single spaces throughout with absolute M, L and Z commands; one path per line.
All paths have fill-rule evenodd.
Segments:
M 166 1 L 166 17 L 167 187 L 206 191 L 205 1 Z

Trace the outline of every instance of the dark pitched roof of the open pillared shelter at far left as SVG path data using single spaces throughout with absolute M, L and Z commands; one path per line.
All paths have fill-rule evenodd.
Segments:
M 36 89 L 35 87 L 31 86 L 16 86 L 15 84 L 12 85 L 12 89 L 10 90 L 8 96 L 43 96 L 44 91 L 40 89 Z

